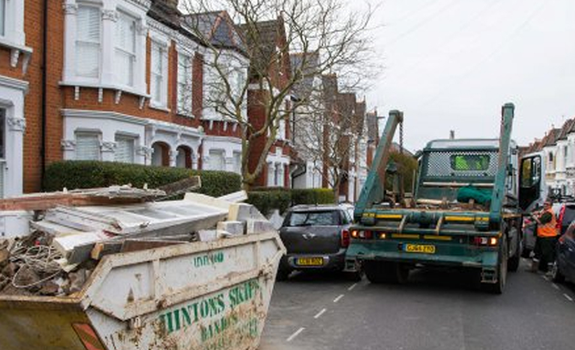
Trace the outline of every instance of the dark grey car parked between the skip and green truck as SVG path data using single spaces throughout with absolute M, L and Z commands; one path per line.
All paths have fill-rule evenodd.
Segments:
M 277 278 L 292 271 L 343 271 L 350 245 L 350 210 L 343 205 L 298 205 L 288 210 L 279 235 L 288 253 Z M 349 273 L 361 279 L 361 273 Z

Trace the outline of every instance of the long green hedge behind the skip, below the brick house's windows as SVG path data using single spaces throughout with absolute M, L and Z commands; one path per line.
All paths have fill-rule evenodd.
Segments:
M 65 160 L 48 165 L 44 176 L 44 189 L 89 189 L 128 183 L 134 187 L 142 187 L 147 183 L 148 187 L 153 189 L 192 175 L 202 178 L 202 188 L 198 192 L 214 197 L 241 190 L 242 187 L 241 177 L 233 172 L 152 167 L 109 161 Z

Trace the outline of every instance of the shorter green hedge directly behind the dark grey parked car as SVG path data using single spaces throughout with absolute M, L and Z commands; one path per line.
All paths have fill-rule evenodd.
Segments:
M 306 189 L 295 190 L 278 187 L 262 187 L 250 190 L 247 202 L 256 206 L 263 214 L 274 209 L 284 213 L 289 206 L 298 204 L 332 204 L 333 190 Z

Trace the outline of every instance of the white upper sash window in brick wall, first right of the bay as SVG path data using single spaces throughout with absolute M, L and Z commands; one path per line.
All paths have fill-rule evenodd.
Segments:
M 152 107 L 165 108 L 168 104 L 168 55 L 167 47 L 152 42 L 152 62 L 150 71 L 150 94 Z

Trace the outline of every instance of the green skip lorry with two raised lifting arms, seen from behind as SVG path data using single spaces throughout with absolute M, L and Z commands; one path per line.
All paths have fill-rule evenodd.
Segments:
M 411 201 L 385 196 L 390 145 L 403 113 L 390 112 L 350 227 L 348 271 L 371 283 L 401 283 L 416 265 L 464 268 L 503 293 L 521 252 L 514 106 L 502 108 L 499 139 L 440 139 L 427 144 Z

